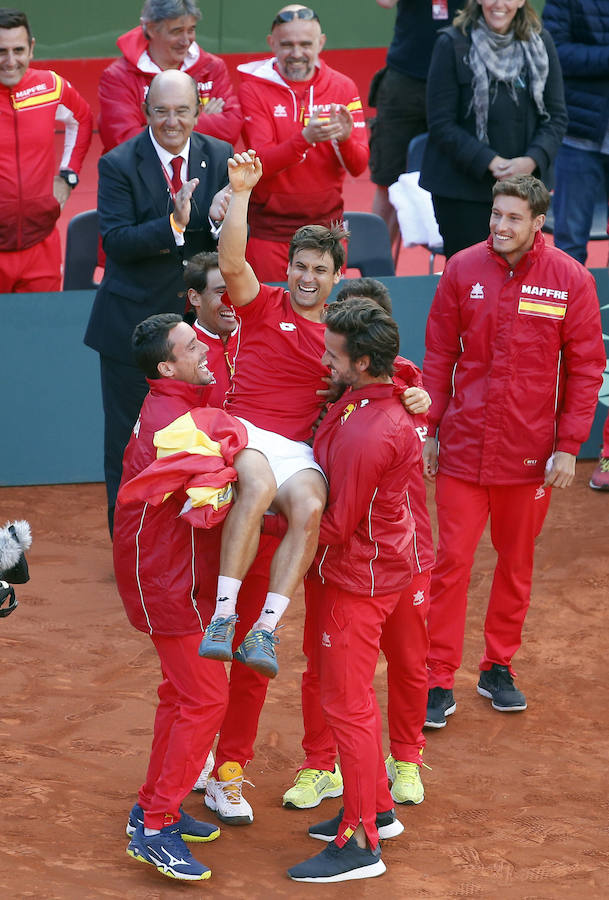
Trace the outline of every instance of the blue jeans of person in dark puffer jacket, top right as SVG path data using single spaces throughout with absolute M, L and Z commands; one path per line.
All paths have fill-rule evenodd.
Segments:
M 594 206 L 609 195 L 609 156 L 562 144 L 556 156 L 554 243 L 586 264 Z

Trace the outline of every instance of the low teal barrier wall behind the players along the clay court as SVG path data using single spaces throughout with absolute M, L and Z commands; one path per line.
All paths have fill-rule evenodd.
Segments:
M 609 275 L 597 280 L 609 349 Z M 423 362 L 425 323 L 438 276 L 382 278 L 393 298 L 401 353 Z M 103 481 L 98 356 L 82 343 L 93 291 L 0 295 L 3 434 L 0 485 Z M 609 373 L 582 458 L 594 458 L 609 405 Z

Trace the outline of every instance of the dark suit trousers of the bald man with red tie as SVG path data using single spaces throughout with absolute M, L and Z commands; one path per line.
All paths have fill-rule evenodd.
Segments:
M 123 453 L 148 393 L 144 373 L 108 356 L 101 356 L 104 404 L 104 475 L 108 496 L 108 528 L 112 536 L 116 495 L 123 471 Z

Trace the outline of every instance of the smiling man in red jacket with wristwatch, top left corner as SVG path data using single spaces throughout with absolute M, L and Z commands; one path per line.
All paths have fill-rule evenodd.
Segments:
M 55 223 L 93 130 L 89 104 L 69 81 L 30 68 L 35 43 L 25 13 L 0 9 L 0 294 L 59 290 Z M 59 169 L 56 122 L 65 124 Z

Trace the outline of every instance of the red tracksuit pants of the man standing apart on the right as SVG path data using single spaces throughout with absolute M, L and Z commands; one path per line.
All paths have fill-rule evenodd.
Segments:
M 536 484 L 483 486 L 436 477 L 438 555 L 431 577 L 429 687 L 452 688 L 461 665 L 467 589 L 474 553 L 491 518 L 497 565 L 484 624 L 481 669 L 510 666 L 529 608 L 535 538 L 550 503 Z

